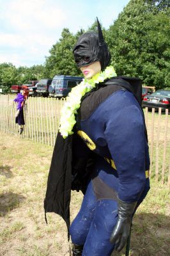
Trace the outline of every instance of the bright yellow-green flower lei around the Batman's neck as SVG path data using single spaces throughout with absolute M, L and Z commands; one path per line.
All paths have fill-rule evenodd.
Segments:
M 117 76 L 112 66 L 106 67 L 103 72 L 95 74 L 91 79 L 82 79 L 82 82 L 73 87 L 71 92 L 66 97 L 66 102 L 61 109 L 61 118 L 59 132 L 65 139 L 69 134 L 73 134 L 73 125 L 75 125 L 75 115 L 77 109 L 81 106 L 81 98 L 91 89 L 95 88 L 96 84 L 102 83 L 105 79 Z

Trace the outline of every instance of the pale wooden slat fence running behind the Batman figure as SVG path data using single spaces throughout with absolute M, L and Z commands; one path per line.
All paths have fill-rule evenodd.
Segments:
M 0 130 L 17 134 L 19 138 L 54 146 L 59 127 L 59 116 L 65 99 L 29 97 L 24 107 L 26 125 L 21 135 L 15 124 L 14 95 L 0 95 Z M 150 176 L 170 185 L 170 122 L 169 115 L 144 109 L 150 146 Z

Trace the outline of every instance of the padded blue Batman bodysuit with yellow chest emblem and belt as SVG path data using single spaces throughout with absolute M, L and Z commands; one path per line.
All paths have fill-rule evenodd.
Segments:
M 118 219 L 117 196 L 124 202 L 137 202 L 138 207 L 150 189 L 143 110 L 128 90 L 120 88 L 101 100 L 104 90 L 82 100 L 77 121 L 82 139 L 82 147 L 75 145 L 77 157 L 95 154 L 81 209 L 70 227 L 72 242 L 84 244 L 82 256 L 110 256 L 114 244 L 109 239 Z M 91 109 L 93 100 L 98 103 Z M 89 115 L 83 109 L 89 109 Z

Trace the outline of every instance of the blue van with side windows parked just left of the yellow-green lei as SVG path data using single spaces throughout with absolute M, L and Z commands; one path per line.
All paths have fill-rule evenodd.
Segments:
M 74 86 L 81 83 L 82 78 L 79 76 L 54 76 L 49 86 L 49 96 L 66 97 Z

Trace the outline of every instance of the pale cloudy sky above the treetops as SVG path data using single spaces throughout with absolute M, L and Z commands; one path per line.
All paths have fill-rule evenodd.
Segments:
M 63 28 L 75 34 L 95 17 L 108 29 L 130 0 L 0 0 L 0 63 L 45 63 Z

